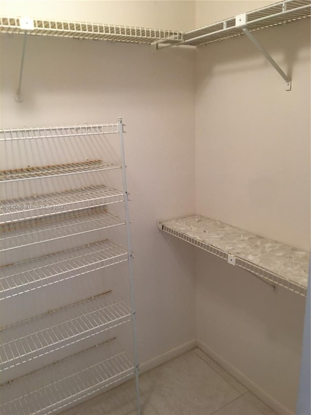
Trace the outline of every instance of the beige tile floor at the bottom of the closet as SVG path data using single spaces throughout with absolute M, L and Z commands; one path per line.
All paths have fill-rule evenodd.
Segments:
M 196 348 L 139 377 L 141 415 L 273 415 L 275 412 Z M 63 415 L 135 415 L 130 380 Z

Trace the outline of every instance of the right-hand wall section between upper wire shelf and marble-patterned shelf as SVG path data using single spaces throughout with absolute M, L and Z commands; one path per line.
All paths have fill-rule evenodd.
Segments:
M 306 251 L 309 33 L 308 20 L 256 33 L 291 91 L 246 37 L 199 49 L 196 80 L 197 212 Z

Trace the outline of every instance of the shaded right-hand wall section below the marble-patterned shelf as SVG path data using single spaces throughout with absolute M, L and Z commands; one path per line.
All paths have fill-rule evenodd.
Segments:
M 278 414 L 294 414 L 305 299 L 198 250 L 199 346 Z

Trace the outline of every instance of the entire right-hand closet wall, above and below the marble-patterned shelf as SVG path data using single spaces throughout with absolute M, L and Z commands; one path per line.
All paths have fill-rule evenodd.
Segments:
M 309 250 L 310 21 L 255 36 L 292 91 L 244 36 L 197 50 L 196 213 Z M 305 299 L 199 251 L 196 281 L 199 341 L 279 413 L 294 412 Z

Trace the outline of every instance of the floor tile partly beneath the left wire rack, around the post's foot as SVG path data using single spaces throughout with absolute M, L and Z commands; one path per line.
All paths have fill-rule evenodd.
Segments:
M 141 415 L 158 415 L 155 408 L 140 394 Z M 135 383 L 130 380 L 102 395 L 94 397 L 62 415 L 136 415 Z

